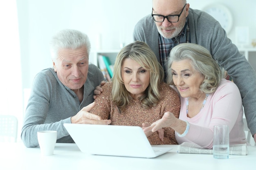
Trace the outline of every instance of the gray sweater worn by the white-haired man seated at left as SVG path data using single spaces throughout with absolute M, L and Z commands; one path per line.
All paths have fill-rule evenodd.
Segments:
M 56 130 L 58 143 L 74 143 L 63 124 L 71 123 L 72 116 L 94 101 L 94 89 L 102 80 L 99 68 L 90 64 L 80 103 L 74 91 L 61 83 L 52 68 L 39 72 L 34 78 L 21 132 L 25 146 L 38 146 L 40 130 Z

